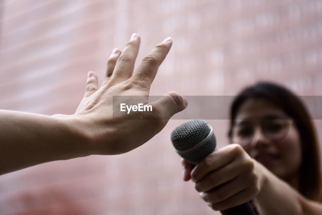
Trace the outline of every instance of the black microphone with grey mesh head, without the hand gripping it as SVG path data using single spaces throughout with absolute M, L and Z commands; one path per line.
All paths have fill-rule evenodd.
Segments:
M 216 150 L 213 128 L 203 119 L 189 120 L 171 133 L 171 142 L 182 158 L 197 165 L 204 157 Z M 256 215 L 249 202 L 220 211 L 223 215 Z

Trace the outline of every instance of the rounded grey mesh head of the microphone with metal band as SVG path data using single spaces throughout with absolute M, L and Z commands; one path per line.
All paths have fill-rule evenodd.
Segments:
M 181 153 L 201 143 L 212 129 L 203 119 L 189 120 L 179 125 L 171 133 L 171 142 L 177 153 L 192 164 L 198 163 L 216 148 L 216 137 L 211 134 L 210 139 L 202 146 L 189 153 Z

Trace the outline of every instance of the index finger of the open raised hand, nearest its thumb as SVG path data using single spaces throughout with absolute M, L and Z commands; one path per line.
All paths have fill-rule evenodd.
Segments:
M 142 59 L 132 78 L 136 79 L 142 85 L 149 87 L 156 76 L 156 72 L 158 71 L 160 64 L 166 58 L 171 46 L 171 37 L 166 38 L 162 43 L 158 44 Z

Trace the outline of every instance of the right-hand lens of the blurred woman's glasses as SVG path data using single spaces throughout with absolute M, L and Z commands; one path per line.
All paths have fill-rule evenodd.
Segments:
M 272 141 L 284 139 L 289 133 L 290 121 L 287 119 L 265 120 L 263 129 Z

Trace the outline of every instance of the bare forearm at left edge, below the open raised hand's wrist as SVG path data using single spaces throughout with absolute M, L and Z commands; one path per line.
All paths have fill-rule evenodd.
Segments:
M 0 174 L 89 155 L 74 124 L 68 117 L 0 110 Z

